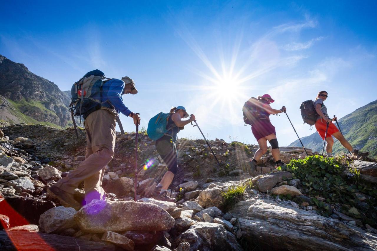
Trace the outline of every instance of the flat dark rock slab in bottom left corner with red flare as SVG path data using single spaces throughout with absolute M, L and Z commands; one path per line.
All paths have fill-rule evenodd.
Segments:
M 0 250 L 114 251 L 115 246 L 57 234 L 0 231 Z

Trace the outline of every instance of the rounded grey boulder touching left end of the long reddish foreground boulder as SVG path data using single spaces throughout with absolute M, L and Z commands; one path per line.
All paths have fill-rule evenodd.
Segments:
M 39 225 L 45 233 L 58 234 L 67 228 L 75 228 L 77 224 L 74 220 L 76 210 L 72 207 L 50 208 L 39 217 Z

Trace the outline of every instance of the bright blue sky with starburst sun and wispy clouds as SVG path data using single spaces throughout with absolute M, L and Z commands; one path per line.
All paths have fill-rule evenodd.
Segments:
M 209 139 L 256 144 L 241 112 L 251 96 L 285 105 L 300 136 L 313 131 L 298 107 L 320 90 L 338 118 L 377 98 L 375 1 L 54 2 L 2 1 L 0 54 L 61 90 L 93 69 L 133 78 L 124 100 L 141 126 L 182 105 Z M 271 121 L 280 145 L 297 139 L 284 114 Z

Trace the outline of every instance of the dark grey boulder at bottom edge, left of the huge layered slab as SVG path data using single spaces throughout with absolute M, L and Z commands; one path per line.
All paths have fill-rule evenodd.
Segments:
M 221 224 L 197 222 L 177 237 L 175 243 L 190 243 L 191 251 L 241 251 L 236 237 Z

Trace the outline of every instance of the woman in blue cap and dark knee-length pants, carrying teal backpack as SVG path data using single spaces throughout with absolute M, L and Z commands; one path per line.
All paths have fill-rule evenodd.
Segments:
M 157 200 L 176 202 L 176 199 L 168 196 L 167 189 L 178 171 L 177 150 L 174 143 L 177 140 L 177 134 L 185 125 L 195 120 L 195 115 L 193 114 L 189 119 L 182 120 L 182 118 L 188 117 L 189 114 L 187 114 L 185 107 L 177 106 L 172 108 L 166 126 L 166 128 L 170 129 L 162 138 L 156 141 L 156 150 L 169 168 L 153 191 L 153 196 L 156 196 Z

